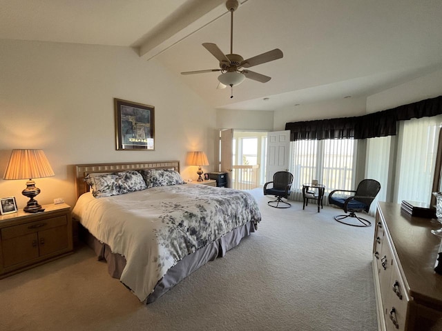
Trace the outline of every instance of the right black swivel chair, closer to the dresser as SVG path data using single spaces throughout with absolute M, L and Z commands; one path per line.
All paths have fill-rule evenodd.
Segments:
M 330 192 L 329 203 L 331 205 L 337 205 L 339 208 L 342 208 L 346 213 L 349 212 L 349 214 L 335 216 L 334 219 L 336 219 L 336 221 L 340 223 L 352 226 L 371 226 L 372 223 L 370 221 L 368 221 L 367 219 L 363 219 L 362 217 L 358 217 L 355 212 L 362 212 L 363 210 L 365 210 L 365 212 L 368 212 L 370 209 L 370 205 L 372 204 L 374 198 L 376 198 L 379 190 L 381 190 L 381 184 L 378 181 L 375 181 L 374 179 L 364 179 L 363 181 L 361 181 L 361 183 L 359 183 L 356 191 L 334 190 Z M 334 197 L 334 194 L 336 192 L 338 192 L 338 194 L 340 192 L 347 192 L 347 195 L 345 195 L 345 197 Z M 354 195 L 349 196 L 348 192 L 352 192 L 354 193 Z M 343 221 L 343 219 L 346 219 L 347 217 L 352 217 L 353 219 L 361 222 L 361 224 L 351 223 L 350 221 Z

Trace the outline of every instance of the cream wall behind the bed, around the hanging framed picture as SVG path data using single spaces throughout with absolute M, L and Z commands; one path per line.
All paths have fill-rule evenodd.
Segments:
M 35 180 L 39 203 L 75 203 L 78 163 L 178 159 L 183 177 L 196 178 L 186 152 L 213 160 L 215 110 L 131 48 L 3 39 L 0 77 L 0 174 L 12 149 L 43 149 L 55 177 Z M 115 150 L 113 98 L 155 106 L 155 151 Z M 25 183 L 0 179 L 0 197 L 15 196 L 23 208 Z

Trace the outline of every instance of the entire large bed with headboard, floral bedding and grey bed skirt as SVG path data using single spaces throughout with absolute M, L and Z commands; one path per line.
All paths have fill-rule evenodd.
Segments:
M 79 237 L 143 303 L 223 257 L 261 219 L 251 194 L 185 183 L 179 171 L 179 161 L 75 166 Z

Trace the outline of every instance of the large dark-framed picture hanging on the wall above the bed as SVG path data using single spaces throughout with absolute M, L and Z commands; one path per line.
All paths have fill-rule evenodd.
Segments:
M 155 107 L 114 98 L 117 150 L 155 150 Z

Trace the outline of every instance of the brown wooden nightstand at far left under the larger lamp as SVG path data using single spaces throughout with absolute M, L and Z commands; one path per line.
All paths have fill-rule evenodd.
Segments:
M 70 205 L 0 216 L 0 279 L 73 252 Z

